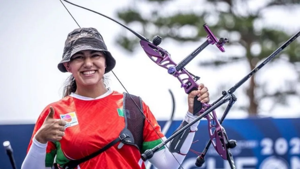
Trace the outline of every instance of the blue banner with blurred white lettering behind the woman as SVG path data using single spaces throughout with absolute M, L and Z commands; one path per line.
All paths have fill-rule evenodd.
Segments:
M 169 137 L 178 128 L 181 121 L 173 121 Z M 165 121 L 159 121 L 164 127 Z M 232 149 L 237 169 L 300 169 L 300 119 L 227 119 L 222 126 L 226 129 L 229 140 L 237 140 Z M 0 125 L 1 144 L 9 140 L 18 168 L 26 155 L 26 149 L 34 125 Z M 201 121 L 191 149 L 202 152 L 208 142 L 207 121 Z M 196 169 L 197 155 L 189 152 L 182 163 L 184 169 Z M 229 169 L 211 146 L 205 156 L 202 169 Z M 0 148 L 0 169 L 10 169 L 11 165 L 3 146 Z M 154 169 L 154 167 L 152 167 Z

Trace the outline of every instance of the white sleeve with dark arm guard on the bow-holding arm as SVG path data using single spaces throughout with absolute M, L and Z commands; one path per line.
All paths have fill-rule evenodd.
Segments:
M 185 117 L 184 117 L 184 121 L 190 123 L 191 121 L 193 121 L 197 116 L 193 116 L 192 113 L 187 112 Z M 197 131 L 197 127 L 199 125 L 200 121 L 197 121 L 196 123 L 194 123 L 193 125 L 190 126 L 190 130 L 191 131 Z M 165 149 L 159 150 L 158 152 L 155 152 L 154 155 L 152 156 L 152 158 L 149 159 L 149 162 L 153 164 L 154 167 L 158 168 L 158 169 L 175 169 L 175 168 L 179 168 L 180 165 L 178 164 L 178 162 L 180 164 L 182 164 L 185 155 L 187 154 L 187 152 L 190 149 L 190 146 L 193 142 L 193 138 L 195 136 L 195 132 L 190 132 L 187 135 L 187 138 L 184 140 L 182 147 L 180 148 L 180 154 L 177 152 L 173 152 L 171 153 L 169 151 L 169 149 L 166 147 Z M 163 140 L 167 140 L 166 137 L 162 138 Z M 170 141 L 171 142 L 171 141 Z M 170 142 L 167 143 L 167 146 L 170 147 Z M 173 155 L 176 157 L 176 159 L 178 160 L 178 162 L 176 161 L 176 159 L 173 157 Z

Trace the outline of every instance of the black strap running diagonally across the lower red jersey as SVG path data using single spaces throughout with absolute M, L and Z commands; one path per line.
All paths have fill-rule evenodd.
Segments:
M 97 152 L 94 152 L 86 157 L 81 158 L 81 159 L 71 160 L 71 161 L 67 162 L 66 164 L 64 164 L 64 169 L 71 169 L 71 168 L 77 167 L 77 165 L 79 165 L 80 163 L 96 157 L 97 155 L 101 154 L 102 152 L 109 149 L 111 146 L 113 146 L 114 144 L 118 143 L 119 141 L 125 139 L 126 137 L 129 137 L 129 135 L 126 133 L 122 133 L 118 138 L 116 138 L 112 142 L 108 143 L 106 146 L 104 146 L 102 149 L 98 150 Z

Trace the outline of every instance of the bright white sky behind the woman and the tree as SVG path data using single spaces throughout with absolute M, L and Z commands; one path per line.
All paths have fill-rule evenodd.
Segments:
M 143 1 L 133 3 L 132 0 L 110 0 L 105 3 L 97 0 L 85 0 L 84 3 L 80 0 L 71 0 L 71 2 L 115 19 L 117 19 L 116 11 L 126 8 L 128 5 L 135 5 L 143 9 L 145 13 L 148 7 Z M 197 1 L 195 4 L 190 2 L 192 1 L 176 0 L 166 10 L 172 13 L 172 11 L 184 9 L 201 10 L 203 8 L 202 1 Z M 255 9 L 262 5 L 261 3 L 261 1 L 255 0 L 251 1 L 249 5 Z M 61 60 L 67 34 L 78 26 L 59 0 L 0 0 L 0 4 L 0 71 L 2 72 L 0 124 L 35 123 L 44 107 L 62 97 L 61 89 L 70 74 L 61 73 L 57 69 L 57 64 Z M 166 69 L 153 63 L 142 48 L 138 48 L 134 54 L 129 54 L 116 45 L 114 41 L 116 36 L 120 32 L 126 32 L 125 28 L 90 11 L 66 2 L 64 4 L 81 27 L 95 27 L 103 35 L 108 50 L 117 61 L 113 71 L 130 94 L 142 97 L 158 120 L 166 120 L 172 109 L 172 100 L 168 92 L 168 89 L 171 89 L 176 101 L 175 119 L 183 118 L 187 111 L 187 95 L 180 88 L 179 81 L 169 75 Z M 299 8 L 298 10 L 289 10 L 289 13 L 283 9 L 274 8 L 263 14 L 264 20 L 258 22 L 258 26 L 264 24 L 278 26 L 289 32 L 291 36 L 300 30 L 300 22 L 296 22 L 300 16 Z M 152 39 L 152 37 L 148 38 Z M 160 46 L 167 49 L 172 59 L 179 63 L 203 42 L 180 44 L 176 41 L 163 40 Z M 240 49 L 226 47 L 225 50 L 232 53 L 243 52 Z M 218 69 L 197 66 L 200 60 L 216 57 L 217 54 L 220 54 L 219 52 L 215 46 L 208 46 L 186 66 L 189 72 L 201 77 L 199 82 L 205 84 L 211 93 L 216 92 L 218 82 L 226 81 L 228 85 L 233 86 L 250 71 L 245 63 L 230 64 Z M 133 56 L 129 57 L 129 55 Z M 284 87 L 282 78 L 293 79 L 297 76 L 290 67 L 282 60 L 270 63 L 257 73 L 256 79 L 269 81 L 270 90 L 276 85 Z M 283 70 L 288 73 L 283 73 Z M 229 78 L 231 79 L 229 80 Z M 110 88 L 119 92 L 125 91 L 112 73 L 109 73 L 109 79 Z M 238 96 L 236 105 L 247 103 L 247 98 L 241 93 L 245 87 L 247 87 L 247 83 L 236 91 Z M 300 91 L 300 85 L 298 85 L 298 89 Z M 221 94 L 212 97 L 211 102 L 220 96 Z M 291 98 L 288 106 L 279 106 L 269 112 L 271 103 L 265 101 L 264 106 L 261 107 L 261 115 L 274 118 L 299 118 L 299 103 L 299 97 Z M 223 113 L 218 109 L 216 112 L 218 117 Z M 247 113 L 238 110 L 230 111 L 227 116 L 227 118 L 245 117 L 247 117 Z

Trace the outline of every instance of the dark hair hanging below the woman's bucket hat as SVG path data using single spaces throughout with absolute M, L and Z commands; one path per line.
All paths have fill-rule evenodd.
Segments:
M 107 87 L 108 85 L 108 77 L 105 77 L 106 75 L 103 76 L 103 82 L 104 86 Z M 75 92 L 77 89 L 76 81 L 73 75 L 70 75 L 66 81 L 65 81 L 65 86 L 63 89 L 63 97 L 69 96 L 72 92 Z

